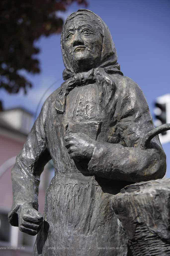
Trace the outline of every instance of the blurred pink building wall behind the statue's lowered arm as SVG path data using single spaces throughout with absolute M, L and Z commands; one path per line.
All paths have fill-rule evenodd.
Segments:
M 26 140 L 26 135 L 11 133 L 10 131 L 4 131 L 0 129 L 0 214 L 5 214 L 6 223 L 5 225 L 9 225 L 7 220 L 7 214 L 12 206 L 12 181 L 11 181 L 11 168 L 15 163 L 15 157 L 21 151 L 24 141 Z M 12 158 L 11 166 L 6 165 L 6 163 L 11 162 L 8 161 Z M 4 164 L 5 163 L 5 164 Z M 8 168 L 6 168 L 6 166 Z M 3 167 L 3 168 L 2 168 Z M 4 168 L 5 167 L 5 168 Z M 3 170 L 3 172 L 2 172 Z M 38 204 L 39 204 L 39 212 L 43 214 L 44 211 L 44 200 L 45 200 L 45 189 L 46 189 L 46 180 L 47 180 L 48 172 L 44 170 L 41 177 L 41 185 L 39 187 L 38 194 Z M 1 221 L 0 221 L 1 222 Z M 12 229 L 14 227 L 9 225 L 10 229 L 10 237 L 12 236 Z M 22 248 L 23 239 L 27 239 L 29 242 L 28 246 L 23 247 L 25 249 L 10 249 L 9 246 L 12 246 L 12 242 L 4 242 L 0 239 L 0 255 L 2 256 L 31 256 L 33 251 L 33 245 L 36 237 L 29 236 L 19 231 L 18 228 L 17 243 L 18 246 Z M 15 236 L 15 235 L 14 235 Z M 18 247 L 17 246 L 17 247 Z M 6 247 L 4 249 L 3 247 Z

